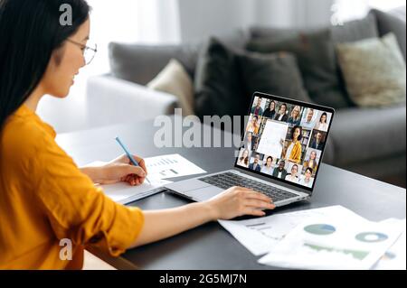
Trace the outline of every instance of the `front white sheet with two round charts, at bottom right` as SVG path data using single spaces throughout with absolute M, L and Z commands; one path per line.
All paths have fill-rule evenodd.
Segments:
M 370 269 L 403 229 L 367 220 L 311 218 L 289 232 L 259 263 L 299 269 Z

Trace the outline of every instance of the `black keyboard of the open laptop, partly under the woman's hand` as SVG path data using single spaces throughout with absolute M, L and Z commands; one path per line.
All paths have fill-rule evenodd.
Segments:
M 235 173 L 232 172 L 216 174 L 213 176 L 200 178 L 199 180 L 204 181 L 205 183 L 211 184 L 213 186 L 219 187 L 221 189 L 229 189 L 233 186 L 240 186 L 256 190 L 269 196 L 273 200 L 273 202 L 286 200 L 298 196 L 297 194 L 290 193 L 289 191 L 280 190 L 276 187 L 261 183 L 259 181 L 251 180 L 251 178 L 236 175 Z

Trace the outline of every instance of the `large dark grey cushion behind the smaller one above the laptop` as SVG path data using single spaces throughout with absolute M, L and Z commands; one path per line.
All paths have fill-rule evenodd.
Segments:
M 288 51 L 295 54 L 305 87 L 315 102 L 335 108 L 349 106 L 339 85 L 335 47 L 329 29 L 298 33 L 280 42 L 272 38 L 252 40 L 247 48 L 263 53 Z

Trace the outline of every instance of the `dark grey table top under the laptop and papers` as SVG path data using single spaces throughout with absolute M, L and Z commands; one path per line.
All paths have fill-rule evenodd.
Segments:
M 158 127 L 153 121 L 112 125 L 89 131 L 58 135 L 57 141 L 79 165 L 108 161 L 122 151 L 114 141 L 120 136 L 133 152 L 143 157 L 180 153 L 207 172 L 230 169 L 234 148 L 156 148 L 154 135 Z M 227 136 L 231 136 L 226 133 Z M 239 135 L 237 135 L 239 137 Z M 172 181 L 185 179 L 171 179 Z M 160 193 L 130 205 L 141 209 L 165 209 L 188 203 L 172 194 Z M 353 172 L 322 164 L 316 188 L 310 201 L 274 210 L 272 213 L 342 205 L 370 220 L 406 217 L 405 190 Z M 271 269 L 257 264 L 251 255 L 218 223 L 208 223 L 181 235 L 128 250 L 118 258 L 92 250 L 110 265 L 124 269 Z

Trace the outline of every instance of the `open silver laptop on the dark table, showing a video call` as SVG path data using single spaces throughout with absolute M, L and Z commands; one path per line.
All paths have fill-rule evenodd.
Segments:
M 232 186 L 264 193 L 276 207 L 309 200 L 334 114 L 330 107 L 256 92 L 231 169 L 166 188 L 194 201 L 209 200 Z

